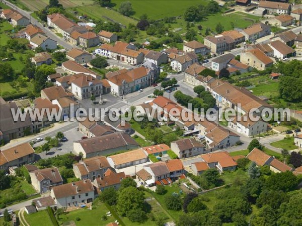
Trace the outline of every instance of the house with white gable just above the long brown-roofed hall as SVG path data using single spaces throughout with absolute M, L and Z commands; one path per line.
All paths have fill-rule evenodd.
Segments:
M 79 131 L 85 134 L 88 138 L 112 134 L 115 130 L 107 125 L 100 125 L 96 121 L 90 121 L 86 118 L 85 121 L 79 122 Z

